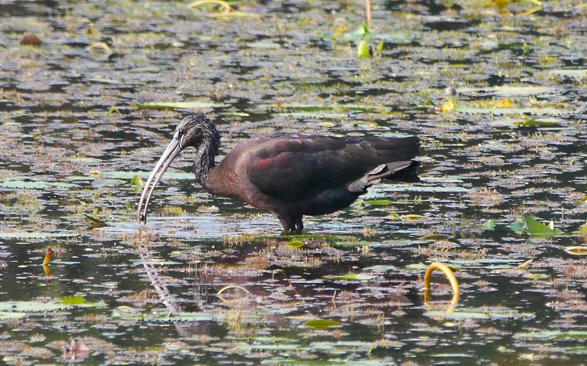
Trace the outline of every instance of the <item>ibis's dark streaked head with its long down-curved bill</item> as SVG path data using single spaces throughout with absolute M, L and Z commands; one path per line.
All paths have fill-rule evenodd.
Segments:
M 194 147 L 198 150 L 197 159 L 203 159 L 203 155 L 207 155 L 207 159 L 211 159 L 208 164 L 214 161 L 214 156 L 218 155 L 220 148 L 220 134 L 216 126 L 206 118 L 205 115 L 188 115 L 180 121 L 177 125 L 176 132 L 173 134 L 173 139 L 159 158 L 157 165 L 153 172 L 147 179 L 143 194 L 139 201 L 139 209 L 137 211 L 137 219 L 139 222 L 147 222 L 147 208 L 149 208 L 149 201 L 153 196 L 153 191 L 157 184 L 163 177 L 163 174 L 170 166 L 171 162 L 176 158 L 181 150 Z M 152 186 L 151 186 L 151 183 Z M 144 207 L 143 207 L 144 206 Z

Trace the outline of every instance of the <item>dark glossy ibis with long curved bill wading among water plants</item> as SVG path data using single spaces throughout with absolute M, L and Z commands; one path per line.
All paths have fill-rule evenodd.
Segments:
M 188 115 L 145 183 L 137 220 L 147 223 L 155 187 L 184 149 L 195 148 L 195 180 L 212 195 L 275 214 L 283 235 L 301 234 L 303 216 L 342 210 L 385 180 L 418 182 L 420 139 L 269 134 L 239 143 L 220 163 L 220 132 L 203 114 Z

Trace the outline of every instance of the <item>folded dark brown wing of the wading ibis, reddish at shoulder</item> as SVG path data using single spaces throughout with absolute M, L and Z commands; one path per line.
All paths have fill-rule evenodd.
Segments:
M 273 135 L 255 140 L 241 160 L 249 182 L 284 201 L 308 199 L 330 189 L 359 189 L 352 184 L 370 172 L 409 166 L 420 145 L 417 137 L 345 140 Z

